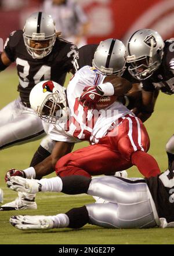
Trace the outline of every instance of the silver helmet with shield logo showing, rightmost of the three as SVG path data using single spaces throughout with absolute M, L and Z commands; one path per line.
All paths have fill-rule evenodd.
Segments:
M 145 28 L 136 31 L 126 47 L 127 63 L 131 63 L 129 73 L 139 80 L 150 77 L 162 62 L 164 41 L 157 31 Z

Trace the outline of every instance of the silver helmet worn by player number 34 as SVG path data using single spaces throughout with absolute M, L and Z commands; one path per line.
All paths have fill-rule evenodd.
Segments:
M 49 55 L 56 41 L 55 20 L 43 12 L 33 13 L 23 29 L 24 43 L 34 59 Z

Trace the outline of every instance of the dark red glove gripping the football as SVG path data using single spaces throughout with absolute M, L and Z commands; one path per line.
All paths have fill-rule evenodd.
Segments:
M 86 86 L 83 91 L 84 92 L 79 97 L 79 102 L 89 109 L 93 109 L 95 104 L 99 102 L 100 98 L 103 96 L 103 91 L 99 86 Z

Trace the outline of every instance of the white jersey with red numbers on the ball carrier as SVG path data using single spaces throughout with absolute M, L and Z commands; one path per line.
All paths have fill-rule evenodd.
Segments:
M 100 85 L 105 77 L 106 75 L 100 74 L 90 66 L 82 67 L 75 73 L 67 87 L 70 118 L 67 122 L 62 121 L 50 126 L 49 134 L 52 139 L 66 142 L 88 140 L 94 144 L 108 131 L 117 127 L 119 118 L 132 114 L 120 102 L 114 102 L 104 110 L 88 109 L 79 102 L 78 99 L 86 86 Z

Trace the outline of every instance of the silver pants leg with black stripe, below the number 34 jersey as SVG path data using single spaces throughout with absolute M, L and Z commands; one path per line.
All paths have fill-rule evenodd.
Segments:
M 23 106 L 20 99 L 4 107 L 0 118 L 0 149 L 39 139 L 45 134 L 40 118 Z

